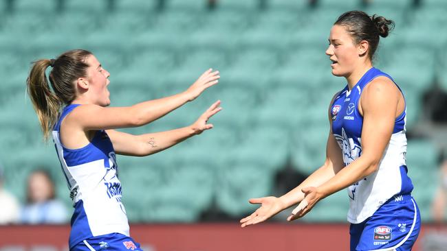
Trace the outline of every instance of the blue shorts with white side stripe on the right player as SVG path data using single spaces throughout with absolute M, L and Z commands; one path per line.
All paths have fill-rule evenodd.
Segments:
M 351 251 L 411 250 L 419 235 L 421 217 L 411 195 L 395 195 L 359 224 L 351 224 Z

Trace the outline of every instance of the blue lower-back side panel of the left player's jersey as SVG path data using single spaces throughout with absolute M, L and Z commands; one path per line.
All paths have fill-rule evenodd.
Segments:
M 79 200 L 74 204 L 74 213 L 72 216 L 72 232 L 70 232 L 69 246 L 73 248 L 77 243 L 92 236 L 89 219 L 84 210 L 83 200 Z

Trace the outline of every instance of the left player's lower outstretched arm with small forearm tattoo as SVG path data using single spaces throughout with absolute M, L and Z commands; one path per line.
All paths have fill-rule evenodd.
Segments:
M 208 119 L 221 110 L 220 101 L 212 104 L 193 125 L 166 132 L 155 132 L 142 135 L 133 135 L 116 130 L 107 130 L 116 154 L 131 156 L 147 156 L 167 149 L 190 136 L 201 134 L 204 130 L 212 128 Z

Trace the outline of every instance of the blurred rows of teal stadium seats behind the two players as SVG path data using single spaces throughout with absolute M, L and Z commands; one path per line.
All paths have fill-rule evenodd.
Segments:
M 327 107 L 345 85 L 330 73 L 329 29 L 342 12 L 360 9 L 396 23 L 381 39 L 375 65 L 406 95 L 413 196 L 423 221 L 433 219 L 447 146 L 447 1 L 2 0 L 0 9 L 0 162 L 6 189 L 21 202 L 30 171 L 45 167 L 58 198 L 71 206 L 25 79 L 33 60 L 82 48 L 111 73 L 112 106 L 172 95 L 209 67 L 221 71 L 219 84 L 197 100 L 124 131 L 188 125 L 221 99 L 213 130 L 154 156 L 118 156 L 118 166 L 133 224 L 235 222 L 256 208 L 248 198 L 281 195 L 323 163 Z M 345 224 L 345 193 L 323 200 L 301 222 Z

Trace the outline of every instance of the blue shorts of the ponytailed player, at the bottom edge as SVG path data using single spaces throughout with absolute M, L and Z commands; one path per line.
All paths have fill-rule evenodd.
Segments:
M 140 244 L 126 235 L 113 233 L 91 237 L 76 244 L 70 251 L 123 250 L 140 251 Z

